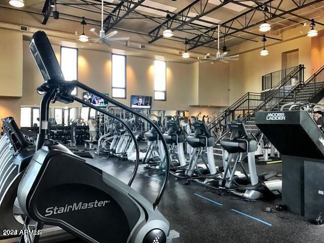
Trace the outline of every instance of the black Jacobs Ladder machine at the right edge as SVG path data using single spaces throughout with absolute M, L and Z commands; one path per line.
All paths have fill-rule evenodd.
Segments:
M 282 205 L 324 224 L 324 135 L 307 111 L 256 112 L 256 125 L 282 154 Z

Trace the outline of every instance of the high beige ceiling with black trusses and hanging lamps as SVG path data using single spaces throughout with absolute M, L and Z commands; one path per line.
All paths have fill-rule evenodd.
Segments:
M 55 5 L 55 1 L 56 10 L 60 13 L 58 20 L 52 17 L 55 8 L 50 7 Z M 56 25 L 72 33 L 76 29 L 81 31 L 77 24 L 84 16 L 86 34 L 91 35 L 90 28 L 100 29 L 101 4 L 100 0 L 25 0 L 23 10 L 29 11 L 29 15 L 36 15 L 34 18 L 39 24 L 45 24 L 44 28 Z M 265 6 L 267 9 L 264 12 Z M 0 7 L 13 8 L 7 0 L 0 0 Z M 282 29 L 304 23 L 308 26 L 312 18 L 316 25 L 322 25 L 316 19 L 320 19 L 323 11 L 324 3 L 320 0 L 105 0 L 104 28 L 106 32 L 122 30 L 124 36 L 140 35 L 141 38 L 135 41 L 143 44 L 179 50 L 184 48 L 183 42 L 187 38 L 189 50 L 207 53 L 214 52 L 217 47 L 218 24 L 221 47 L 225 40 L 230 49 L 242 42 L 261 42 L 263 33 L 258 27 L 264 18 L 271 24 L 271 31 L 265 33 L 266 37 L 281 41 Z M 166 19 L 168 13 L 169 21 Z M 73 27 L 64 29 L 63 21 L 70 21 Z M 167 27 L 174 33 L 170 38 L 162 35 Z

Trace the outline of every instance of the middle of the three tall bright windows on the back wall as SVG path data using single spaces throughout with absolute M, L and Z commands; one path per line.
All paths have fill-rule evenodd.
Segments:
M 126 98 L 126 56 L 111 56 L 112 98 Z

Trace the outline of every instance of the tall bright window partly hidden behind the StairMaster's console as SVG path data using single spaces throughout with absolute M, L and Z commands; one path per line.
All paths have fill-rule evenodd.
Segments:
M 61 47 L 61 69 L 65 80 L 77 80 L 77 49 Z M 72 91 L 76 95 L 76 88 Z

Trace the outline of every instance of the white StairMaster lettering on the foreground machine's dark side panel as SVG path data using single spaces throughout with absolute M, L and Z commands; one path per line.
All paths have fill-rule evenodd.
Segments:
M 80 201 L 79 203 L 74 203 L 72 205 L 65 205 L 64 207 L 49 207 L 45 210 L 45 217 L 55 215 L 55 214 L 62 214 L 62 213 L 67 213 L 71 211 L 77 211 L 77 210 L 85 210 L 85 209 L 92 209 L 92 208 L 100 208 L 100 207 L 105 207 L 108 205 L 110 201 L 108 200 L 103 200 L 103 201 L 92 201 L 90 203 L 83 203 Z

